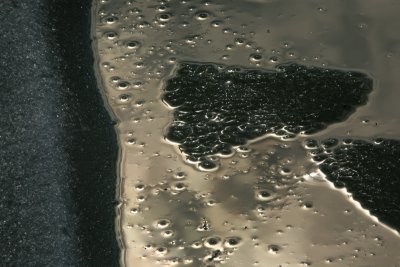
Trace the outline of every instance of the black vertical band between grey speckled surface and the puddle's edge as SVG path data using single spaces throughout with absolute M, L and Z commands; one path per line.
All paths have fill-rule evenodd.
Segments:
M 74 169 L 82 266 L 117 266 L 114 231 L 117 144 L 93 72 L 91 1 L 51 0 L 49 18 L 62 58 L 67 91 L 65 150 Z

